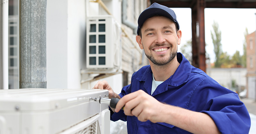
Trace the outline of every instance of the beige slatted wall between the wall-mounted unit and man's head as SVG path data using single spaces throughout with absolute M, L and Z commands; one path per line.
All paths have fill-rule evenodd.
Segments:
M 142 11 L 147 8 L 147 0 L 127 0 L 127 19 L 138 25 L 137 21 Z M 148 58 L 145 56 L 143 50 L 139 48 L 136 42 L 136 35 L 133 34 L 133 29 L 122 24 L 124 31 L 128 33 L 126 37 L 123 33 L 122 46 L 123 46 L 123 66 L 122 70 L 129 73 L 128 84 L 131 82 L 132 74 L 138 71 L 142 66 L 148 65 Z M 130 41 L 129 38 L 132 40 Z

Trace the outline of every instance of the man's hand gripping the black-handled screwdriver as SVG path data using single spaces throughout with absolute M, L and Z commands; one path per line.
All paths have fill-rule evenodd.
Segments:
M 164 110 L 163 103 L 143 90 L 138 90 L 122 97 L 116 105 L 115 112 L 119 112 L 122 107 L 124 107 L 125 115 L 136 116 L 139 121 L 150 120 L 153 123 L 161 121 L 159 114 Z

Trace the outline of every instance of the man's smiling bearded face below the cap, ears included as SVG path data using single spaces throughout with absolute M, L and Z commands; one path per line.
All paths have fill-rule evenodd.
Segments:
M 178 33 L 178 34 L 177 34 Z M 141 38 L 136 36 L 141 49 L 144 49 L 148 59 L 156 65 L 170 63 L 177 54 L 181 31 L 176 33 L 176 27 L 171 19 L 157 16 L 147 19 L 141 28 Z

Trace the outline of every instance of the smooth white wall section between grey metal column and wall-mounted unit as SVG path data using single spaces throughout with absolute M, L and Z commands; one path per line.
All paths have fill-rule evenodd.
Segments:
M 81 88 L 85 1 L 47 1 L 47 88 Z

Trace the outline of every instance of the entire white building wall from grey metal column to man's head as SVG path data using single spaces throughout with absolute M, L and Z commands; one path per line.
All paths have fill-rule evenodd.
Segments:
M 138 49 L 133 29 L 122 24 L 122 0 L 102 1 L 127 33 L 122 33 L 122 70 L 129 73 L 130 83 L 132 73 L 147 65 L 148 60 Z M 147 0 L 127 0 L 127 18 L 137 25 L 146 8 Z M 89 75 L 81 75 L 80 71 L 86 69 L 86 16 L 106 14 L 99 3 L 90 0 L 47 1 L 47 88 L 92 88 L 99 81 L 81 84 Z M 118 89 L 116 93 L 123 87 L 122 73 L 100 80 L 107 80 L 114 90 Z

